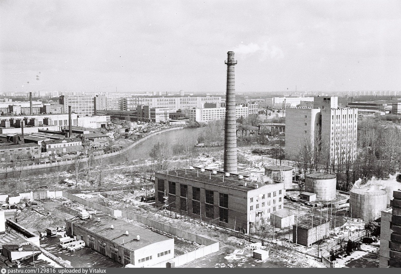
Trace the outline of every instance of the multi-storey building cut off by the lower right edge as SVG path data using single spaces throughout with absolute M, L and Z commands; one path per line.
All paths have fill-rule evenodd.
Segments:
M 401 267 L 401 191 L 393 196 L 393 209 L 382 212 L 379 267 L 383 268 Z

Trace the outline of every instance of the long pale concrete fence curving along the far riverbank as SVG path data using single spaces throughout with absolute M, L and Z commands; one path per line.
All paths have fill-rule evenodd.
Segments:
M 150 137 L 166 132 L 166 131 L 172 131 L 172 130 L 176 130 L 176 129 L 183 129 L 183 126 L 176 126 L 176 127 L 170 127 L 168 129 L 159 129 L 156 130 L 144 137 L 141 137 L 140 139 L 137 139 L 135 141 L 133 141 L 133 143 L 131 143 L 130 145 L 123 147 L 121 149 L 118 149 L 116 151 L 109 151 L 109 152 L 103 152 L 103 153 L 99 153 L 95 156 L 93 156 L 93 159 L 97 160 L 100 158 L 107 158 L 107 157 L 113 157 L 116 155 L 119 155 L 121 153 L 124 153 L 126 151 L 128 151 L 129 149 L 132 149 L 132 147 L 138 145 L 139 143 L 141 143 L 142 141 L 145 141 L 146 139 L 149 139 Z M 83 163 L 86 162 L 88 157 L 84 157 L 84 158 L 79 158 L 79 162 Z M 18 164 L 16 162 L 16 165 L 7 165 L 5 167 L 0 167 L 0 173 L 10 173 L 10 172 L 21 172 L 24 170 L 30 170 L 30 169 L 41 169 L 41 168 L 47 168 L 47 167 L 57 167 L 57 166 L 61 166 L 61 165 L 71 165 L 75 163 L 75 159 L 73 158 L 69 158 L 69 159 L 63 159 L 63 160 L 49 160 L 49 161 L 45 161 L 45 163 L 29 163 L 29 164 Z

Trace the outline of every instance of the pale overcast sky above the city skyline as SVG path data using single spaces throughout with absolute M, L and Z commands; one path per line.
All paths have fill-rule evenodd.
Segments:
M 237 92 L 401 90 L 398 0 L 1 0 L 0 8 L 0 92 L 224 91 L 229 50 Z

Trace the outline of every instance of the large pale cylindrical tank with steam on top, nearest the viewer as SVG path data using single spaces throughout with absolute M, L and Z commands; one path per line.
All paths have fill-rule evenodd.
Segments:
M 350 216 L 365 222 L 380 218 L 387 208 L 387 192 L 384 189 L 352 188 L 350 191 Z

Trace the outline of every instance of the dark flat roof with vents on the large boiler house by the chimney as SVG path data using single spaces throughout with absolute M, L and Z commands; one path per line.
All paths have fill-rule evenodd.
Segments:
M 215 185 L 220 187 L 228 187 L 231 189 L 237 189 L 241 191 L 250 191 L 255 189 L 254 184 L 256 182 L 250 181 L 250 176 L 243 175 L 243 179 L 238 179 L 237 174 L 230 174 L 230 176 L 225 176 L 225 172 L 217 171 L 217 174 L 213 174 L 211 169 L 205 169 L 204 172 L 201 172 L 200 168 L 194 167 L 194 169 L 172 169 L 168 173 L 165 171 L 158 172 L 160 174 L 166 175 L 166 177 L 180 177 L 185 178 L 193 181 L 198 181 L 201 183 L 207 183 L 209 185 Z M 246 179 L 246 180 L 245 180 Z M 169 179 L 170 180 L 170 179 Z M 173 179 L 171 179 L 173 180 Z M 249 181 L 248 181 L 249 180 Z M 247 182 L 247 186 L 243 186 L 243 183 Z M 277 185 L 277 183 L 261 183 L 260 181 L 257 182 L 259 187 L 264 185 Z

